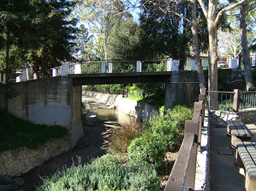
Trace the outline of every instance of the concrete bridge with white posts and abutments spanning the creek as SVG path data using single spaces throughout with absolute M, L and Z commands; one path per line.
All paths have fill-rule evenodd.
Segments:
M 82 136 L 82 85 L 165 83 L 166 108 L 170 108 L 177 101 L 187 99 L 186 94 L 184 94 L 186 84 L 192 84 L 193 91 L 196 92 L 195 95 L 199 95 L 196 70 L 178 71 L 176 62 L 170 62 L 168 68 L 171 71 L 151 73 L 137 70 L 134 73 L 81 74 L 81 66 L 72 67 L 74 70 L 70 73 L 70 65 L 63 63 L 62 67 L 52 69 L 53 77 L 49 78 L 40 78 L 38 74 L 29 75 L 29 70 L 23 68 L 22 78 L 18 76 L 16 77 L 17 83 L 9 83 L 11 97 L 8 105 L 9 112 L 23 120 L 38 124 L 65 126 L 69 129 L 71 148 Z M 141 68 L 138 62 L 137 68 Z M 31 77 L 33 80 L 30 80 Z M 5 84 L 0 85 L 0 92 L 2 92 L 0 94 L 0 108 L 5 108 Z

